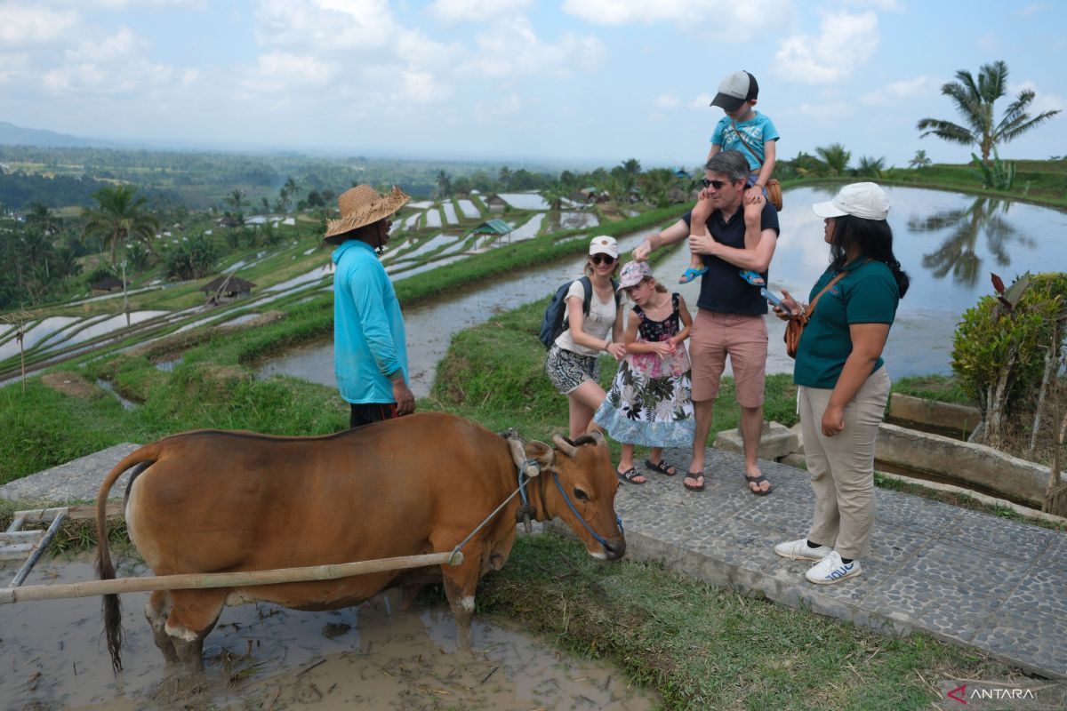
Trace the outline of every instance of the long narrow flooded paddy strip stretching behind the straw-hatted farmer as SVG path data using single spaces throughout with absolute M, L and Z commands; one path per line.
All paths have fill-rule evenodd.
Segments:
M 640 244 L 647 232 L 619 238 L 619 246 L 627 253 Z M 627 255 L 623 254 L 625 259 Z M 508 311 L 531 301 L 543 298 L 569 278 L 582 276 L 586 257 L 524 271 L 521 278 L 487 279 L 473 290 L 444 294 L 440 300 L 404 309 L 408 334 L 408 368 L 411 389 L 416 397 L 430 393 L 437 361 L 444 357 L 452 334 L 488 321 L 494 313 Z M 436 262 L 436 265 L 440 262 Z M 681 273 L 684 265 L 679 268 Z M 696 292 L 694 292 L 696 293 Z M 688 296 L 687 296 L 688 298 Z M 696 304 L 696 295 L 692 297 Z M 285 374 L 313 383 L 336 387 L 333 370 L 333 340 L 307 345 L 289 352 L 259 369 L 259 377 Z

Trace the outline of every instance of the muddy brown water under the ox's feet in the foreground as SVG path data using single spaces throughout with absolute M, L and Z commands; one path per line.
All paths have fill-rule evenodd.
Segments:
M 2 583 L 17 568 L 0 567 Z M 127 563 L 120 577 L 145 575 Z M 94 579 L 87 555 L 43 560 L 26 585 Z M 395 591 L 334 612 L 226 608 L 204 645 L 206 673 L 168 677 L 144 618 L 147 593 L 123 595 L 124 670 L 111 673 L 100 599 L 0 605 L 0 709 L 381 709 L 644 711 L 655 698 L 618 670 L 569 658 L 475 619 L 456 651 L 447 605 L 397 611 Z

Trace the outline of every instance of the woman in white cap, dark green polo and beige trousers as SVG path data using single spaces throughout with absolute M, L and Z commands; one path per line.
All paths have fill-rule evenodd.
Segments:
M 792 560 L 816 561 L 816 584 L 861 571 L 874 523 L 874 449 L 889 398 L 882 348 L 908 290 L 886 222 L 889 200 L 873 182 L 845 185 L 812 208 L 826 223 L 830 266 L 811 290 L 811 306 L 783 291 L 782 305 L 810 317 L 797 346 L 805 457 L 815 492 L 808 536 L 775 546 Z M 776 307 L 779 318 L 787 314 Z

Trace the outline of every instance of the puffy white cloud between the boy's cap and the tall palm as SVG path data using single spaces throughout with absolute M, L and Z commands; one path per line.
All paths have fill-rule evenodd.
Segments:
M 878 47 L 878 16 L 837 13 L 823 17 L 817 37 L 796 35 L 778 50 L 776 69 L 783 78 L 807 84 L 834 83 L 866 63 Z

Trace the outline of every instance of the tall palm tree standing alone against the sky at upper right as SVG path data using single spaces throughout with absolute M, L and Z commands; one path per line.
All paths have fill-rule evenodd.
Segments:
M 1058 110 L 1046 111 L 1031 117 L 1026 108 L 1035 94 L 1026 88 L 1019 92 L 1015 101 L 1004 110 L 1001 122 L 993 125 L 993 104 L 1007 94 L 1007 64 L 1003 61 L 982 65 L 977 82 L 966 69 L 957 71 L 956 79 L 941 86 L 941 93 L 953 100 L 967 126 L 939 118 L 923 118 L 915 128 L 924 131 L 920 138 L 933 134 L 965 146 L 977 144 L 983 163 L 989 163 L 989 153 L 998 143 L 1017 139 L 1060 113 Z

